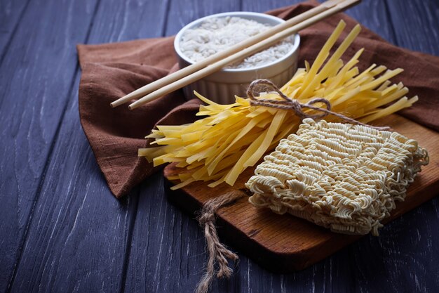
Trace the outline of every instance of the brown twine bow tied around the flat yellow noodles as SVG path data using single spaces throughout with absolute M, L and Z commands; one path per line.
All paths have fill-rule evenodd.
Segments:
M 257 89 L 260 89 L 264 87 L 265 89 L 272 89 L 276 93 L 278 93 L 283 100 L 273 100 L 273 99 L 264 99 L 264 98 L 255 98 L 255 93 L 261 93 L 262 91 L 257 91 Z M 358 124 L 362 126 L 367 126 L 373 129 L 377 130 L 389 130 L 390 127 L 384 126 L 371 126 L 369 124 L 365 124 L 363 122 L 359 122 L 356 119 L 352 119 L 350 117 L 347 117 L 345 115 L 342 115 L 337 112 L 332 112 L 331 110 L 331 103 L 329 100 L 325 98 L 313 98 L 306 104 L 299 103 L 298 100 L 294 100 L 288 96 L 286 96 L 273 82 L 269 81 L 268 79 L 257 79 L 253 81 L 247 90 L 247 96 L 250 99 L 251 105 L 258 105 L 258 106 L 265 106 L 265 107 L 271 107 L 271 108 L 278 108 L 278 109 L 285 109 L 285 110 L 292 110 L 295 112 L 295 115 L 299 117 L 299 119 L 302 121 L 305 118 L 312 118 L 312 119 L 321 119 L 323 117 L 326 117 L 327 115 L 334 115 L 336 117 L 339 117 L 340 119 L 344 120 L 345 122 L 349 122 L 352 124 Z M 325 104 L 326 108 L 320 108 L 313 104 L 316 103 L 323 103 Z M 311 110 L 316 110 L 317 112 L 320 112 L 320 114 L 314 114 L 309 115 L 304 112 L 304 108 L 308 108 Z

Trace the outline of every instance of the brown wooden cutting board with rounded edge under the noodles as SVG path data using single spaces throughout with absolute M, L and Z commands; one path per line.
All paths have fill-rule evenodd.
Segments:
M 398 115 L 381 119 L 376 124 L 389 125 L 400 134 L 416 139 L 430 156 L 430 163 L 423 167 L 408 189 L 405 201 L 398 202 L 391 217 L 386 219 L 389 222 L 438 195 L 439 134 Z M 170 191 L 168 197 L 180 208 L 194 213 L 207 200 L 225 193 L 246 193 L 250 196 L 244 183 L 252 176 L 254 169 L 249 168 L 241 174 L 233 187 L 223 183 L 209 188 L 206 183 L 195 182 L 181 190 Z M 170 164 L 164 169 L 164 175 L 168 178 L 179 171 L 174 164 Z M 248 202 L 248 197 L 223 207 L 217 216 L 221 240 L 271 271 L 286 273 L 301 270 L 361 237 L 332 233 L 289 214 L 281 216 L 269 209 L 257 209 Z

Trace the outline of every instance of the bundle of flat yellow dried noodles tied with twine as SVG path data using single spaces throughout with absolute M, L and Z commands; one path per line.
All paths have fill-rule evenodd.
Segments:
M 299 103 L 313 98 L 330 101 L 332 111 L 369 123 L 410 107 L 417 96 L 407 98 L 403 84 L 391 84 L 389 79 L 402 72 L 371 65 L 359 72 L 358 63 L 363 49 L 347 63 L 340 58 L 360 32 L 356 26 L 330 56 L 330 50 L 342 34 L 345 22 L 340 21 L 327 40 L 313 65 L 297 70 L 281 91 Z M 181 188 L 194 181 L 212 181 L 209 186 L 226 182 L 234 185 L 238 176 L 252 167 L 265 152 L 272 150 L 282 138 L 294 133 L 299 118 L 288 110 L 252 106 L 248 98 L 236 96 L 236 103 L 219 105 L 195 93 L 207 105 L 201 105 L 196 122 L 177 126 L 157 126 L 147 138 L 154 138 L 156 148 L 139 150 L 154 165 L 177 162 L 182 172 L 174 179 Z M 261 93 L 259 98 L 281 99 L 277 93 Z M 390 105 L 389 105 L 390 103 Z M 386 107 L 382 108 L 384 105 Z M 318 105 L 317 105 L 318 106 Z M 305 110 L 311 112 L 312 110 Z M 325 117 L 337 121 L 337 117 Z

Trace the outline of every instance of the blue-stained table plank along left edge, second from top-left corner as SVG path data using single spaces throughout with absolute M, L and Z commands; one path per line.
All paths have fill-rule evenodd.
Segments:
M 0 65 L 0 292 L 18 268 L 67 101 L 77 91 L 75 44 L 87 41 L 94 8 L 95 1 L 32 1 L 11 28 Z

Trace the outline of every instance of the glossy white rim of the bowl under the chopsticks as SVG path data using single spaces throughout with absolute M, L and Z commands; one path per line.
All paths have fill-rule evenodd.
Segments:
M 265 14 L 265 13 L 259 13 L 259 12 L 250 12 L 250 11 L 231 11 L 231 12 L 223 12 L 223 13 L 216 13 L 204 16 L 203 18 L 198 18 L 192 22 L 189 22 L 187 25 L 182 27 L 182 29 L 175 35 L 174 39 L 174 50 L 177 53 L 177 55 L 182 58 L 184 61 L 186 61 L 189 64 L 194 64 L 194 61 L 187 58 L 187 56 L 184 55 L 184 53 L 180 50 L 180 40 L 182 39 L 182 35 L 186 30 L 191 29 L 195 25 L 198 25 L 198 23 L 203 22 L 204 20 L 208 18 L 215 18 L 215 17 L 227 17 L 227 16 L 246 16 L 246 15 L 256 15 L 256 16 L 262 16 L 266 19 L 276 20 L 278 23 L 285 22 L 282 18 L 278 18 L 273 15 Z M 256 20 L 255 20 L 256 21 Z M 284 60 L 286 60 L 289 56 L 295 53 L 295 51 L 298 50 L 299 44 L 300 44 L 300 36 L 299 34 L 292 34 L 290 37 L 292 37 L 292 48 L 288 53 L 285 54 L 285 56 L 278 58 L 276 60 L 273 60 L 271 63 L 266 63 L 263 65 L 255 66 L 255 67 L 247 67 L 247 68 L 223 68 L 222 70 L 219 70 L 219 72 L 247 72 L 250 70 L 262 70 L 266 67 L 271 67 L 273 65 L 276 65 L 278 63 L 282 63 Z

